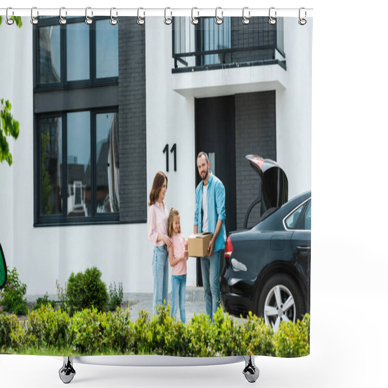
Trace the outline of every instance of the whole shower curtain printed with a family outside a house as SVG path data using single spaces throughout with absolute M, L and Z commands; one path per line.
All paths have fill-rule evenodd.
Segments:
M 312 20 L 142 16 L 2 18 L 0 353 L 306 356 Z

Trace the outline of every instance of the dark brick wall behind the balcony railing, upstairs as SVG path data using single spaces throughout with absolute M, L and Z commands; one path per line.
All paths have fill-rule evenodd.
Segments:
M 249 48 L 273 45 L 276 39 L 276 25 L 268 23 L 268 17 L 251 17 L 249 24 L 242 24 L 242 17 L 232 17 L 232 48 Z M 273 59 L 272 49 L 233 52 L 231 61 L 250 62 Z

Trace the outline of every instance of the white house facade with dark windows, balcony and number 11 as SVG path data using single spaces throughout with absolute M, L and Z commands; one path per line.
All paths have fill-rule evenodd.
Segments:
M 0 96 L 20 123 L 14 162 L 0 165 L 0 240 L 29 298 L 91 266 L 124 292 L 152 292 L 152 181 L 166 173 L 165 202 L 187 237 L 199 151 L 225 185 L 227 232 L 243 227 L 258 194 L 245 155 L 275 160 L 289 198 L 311 188 L 311 25 L 136 20 L 0 26 L 10 53 L 0 58 Z M 196 259 L 187 271 L 188 286 L 201 283 Z

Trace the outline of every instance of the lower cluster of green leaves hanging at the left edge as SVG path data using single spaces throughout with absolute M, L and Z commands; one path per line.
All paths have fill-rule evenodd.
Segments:
M 12 164 L 12 154 L 9 151 L 9 145 L 6 136 L 17 139 L 19 136 L 19 122 L 11 114 L 11 103 L 4 98 L 0 100 L 0 162 L 6 161 Z

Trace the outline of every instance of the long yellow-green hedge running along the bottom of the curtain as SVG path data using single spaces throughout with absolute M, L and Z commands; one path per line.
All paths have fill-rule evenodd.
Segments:
M 129 320 L 129 309 L 119 307 L 108 313 L 86 308 L 70 317 L 61 308 L 43 305 L 29 313 L 24 322 L 16 315 L 0 314 L 0 353 L 190 357 L 309 354 L 308 314 L 302 321 L 281 323 L 274 333 L 252 313 L 238 323 L 219 308 L 214 324 L 205 314 L 182 323 L 171 318 L 170 313 L 170 307 L 160 306 L 157 315 L 150 318 L 142 310 L 135 322 Z

